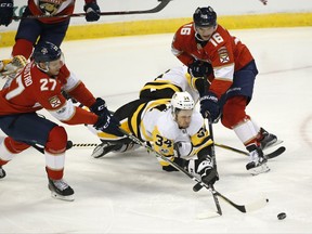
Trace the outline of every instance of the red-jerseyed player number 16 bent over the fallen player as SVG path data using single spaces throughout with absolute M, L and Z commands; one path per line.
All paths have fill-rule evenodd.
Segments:
M 221 118 L 250 153 L 246 169 L 252 174 L 269 171 L 262 150 L 277 138 L 257 126 L 245 109 L 252 98 L 258 69 L 248 48 L 217 24 L 211 6 L 197 8 L 193 22 L 181 26 L 172 40 L 172 53 L 194 77 L 209 79 L 200 95 L 200 112 L 212 121 Z

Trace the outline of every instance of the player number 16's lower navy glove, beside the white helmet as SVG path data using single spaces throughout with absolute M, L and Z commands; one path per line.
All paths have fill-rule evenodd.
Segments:
M 212 122 L 218 122 L 221 112 L 217 95 L 208 91 L 200 98 L 200 114 L 204 118 L 209 117 Z

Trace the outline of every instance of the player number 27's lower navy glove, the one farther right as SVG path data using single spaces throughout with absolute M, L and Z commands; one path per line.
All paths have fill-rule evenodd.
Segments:
M 108 110 L 107 110 L 108 112 Z M 96 130 L 106 132 L 108 134 L 122 136 L 123 133 L 119 130 L 119 121 L 109 113 L 99 116 L 98 121 L 93 125 Z

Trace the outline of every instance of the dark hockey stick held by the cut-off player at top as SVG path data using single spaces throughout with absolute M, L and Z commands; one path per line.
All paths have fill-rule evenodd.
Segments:
M 128 15 L 128 14 L 151 14 L 157 13 L 161 11 L 171 0 L 158 0 L 160 3 L 153 9 L 150 10 L 141 10 L 141 11 L 116 11 L 116 12 L 101 12 L 100 15 Z M 27 15 L 26 17 L 23 16 L 13 16 L 12 18 L 15 21 L 22 18 L 53 18 L 53 17 L 81 17 L 86 16 L 86 13 L 74 13 L 70 15 Z

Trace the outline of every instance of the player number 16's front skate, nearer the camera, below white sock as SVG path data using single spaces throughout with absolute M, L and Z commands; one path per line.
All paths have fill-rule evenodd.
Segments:
M 264 157 L 263 152 L 260 147 L 257 147 L 256 145 L 250 145 L 247 147 L 247 150 L 249 151 L 250 161 L 246 165 L 246 169 L 252 176 L 270 171 L 270 168 L 266 165 L 268 159 Z

